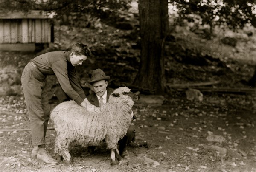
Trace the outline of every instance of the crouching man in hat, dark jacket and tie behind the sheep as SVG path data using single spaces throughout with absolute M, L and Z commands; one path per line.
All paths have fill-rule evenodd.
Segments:
M 108 88 L 109 76 L 106 76 L 101 69 L 93 70 L 90 80 L 88 81 L 93 85 L 94 93 L 87 96 L 88 101 L 96 107 L 102 107 L 103 104 L 108 103 L 109 96 L 113 93 L 113 89 Z M 133 116 L 133 113 L 132 113 Z M 132 118 L 131 116 L 131 118 Z M 128 158 L 127 145 L 135 141 L 135 129 L 130 126 L 127 134 L 119 141 L 119 153 L 123 158 Z

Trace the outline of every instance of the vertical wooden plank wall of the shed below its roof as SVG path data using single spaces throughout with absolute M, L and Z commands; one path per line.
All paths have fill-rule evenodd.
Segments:
M 48 19 L 1 19 L 0 44 L 50 43 L 51 25 Z

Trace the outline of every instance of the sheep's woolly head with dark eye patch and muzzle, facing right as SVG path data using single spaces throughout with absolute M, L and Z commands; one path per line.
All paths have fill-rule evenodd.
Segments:
M 109 97 L 110 103 L 127 104 L 129 107 L 132 107 L 137 100 L 138 96 L 132 93 L 128 87 L 117 88 Z

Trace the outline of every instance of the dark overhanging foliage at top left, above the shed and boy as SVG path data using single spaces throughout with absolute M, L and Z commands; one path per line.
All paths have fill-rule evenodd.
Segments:
M 3 1 L 3 2 L 2 2 Z M 128 10 L 132 0 L 1 0 L 1 13 L 9 11 L 44 10 L 55 15 L 62 24 L 73 20 L 90 20 L 87 16 L 115 20 L 121 11 Z

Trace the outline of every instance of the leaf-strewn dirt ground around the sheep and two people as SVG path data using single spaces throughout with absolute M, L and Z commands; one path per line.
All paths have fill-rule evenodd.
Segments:
M 33 160 L 30 131 L 15 130 L 29 128 L 26 110 L 19 108 L 15 113 L 15 108 L 9 107 L 0 116 L 1 171 L 255 172 L 255 113 L 221 100 L 218 95 L 206 95 L 203 102 L 190 102 L 180 94 L 169 97 L 162 106 L 135 105 L 137 119 L 132 124 L 136 128 L 136 144 L 128 147 L 130 157 L 113 167 L 109 150 L 102 147 L 92 151 L 76 144 L 70 149 L 73 166 L 63 162 L 50 166 Z M 50 121 L 48 128 L 52 127 Z M 55 130 L 47 130 L 51 155 L 55 135 Z M 217 148 L 212 149 L 213 145 Z

